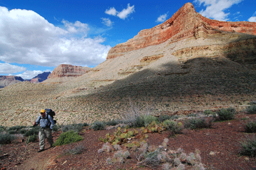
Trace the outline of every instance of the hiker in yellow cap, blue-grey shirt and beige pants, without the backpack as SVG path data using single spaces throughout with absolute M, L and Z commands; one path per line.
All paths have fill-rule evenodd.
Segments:
M 51 116 L 45 112 L 45 109 L 42 109 L 40 111 L 40 116 L 36 119 L 36 121 L 33 122 L 33 126 L 36 127 L 40 123 L 39 128 L 39 147 L 40 151 L 44 151 L 44 145 L 45 145 L 45 138 L 47 137 L 47 141 L 49 144 L 51 144 L 51 147 L 53 146 L 53 139 L 52 139 L 52 128 L 54 127 L 54 121 Z

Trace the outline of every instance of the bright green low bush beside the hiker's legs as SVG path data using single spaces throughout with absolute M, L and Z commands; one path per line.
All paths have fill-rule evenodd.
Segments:
M 83 140 L 83 137 L 81 137 L 81 135 L 71 130 L 71 131 L 63 132 L 62 134 L 60 134 L 60 136 L 54 143 L 54 146 L 61 146 L 63 144 L 69 144 L 69 143 L 76 143 L 82 140 Z

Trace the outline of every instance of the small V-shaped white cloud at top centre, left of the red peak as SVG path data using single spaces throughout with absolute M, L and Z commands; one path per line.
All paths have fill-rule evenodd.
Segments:
M 122 12 L 116 11 L 114 7 L 109 8 L 109 10 L 105 11 L 105 13 L 107 13 L 108 15 L 114 15 L 116 17 L 119 17 L 120 19 L 126 19 L 127 17 L 129 17 L 131 13 L 134 13 L 134 12 L 135 12 L 134 5 L 130 6 L 130 4 L 127 4 L 127 8 L 123 9 Z

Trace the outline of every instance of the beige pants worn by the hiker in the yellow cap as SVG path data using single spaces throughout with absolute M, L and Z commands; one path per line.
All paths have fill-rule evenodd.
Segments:
M 44 150 L 45 146 L 45 138 L 47 138 L 47 141 L 49 144 L 53 144 L 52 139 L 52 130 L 51 128 L 39 128 L 39 147 L 40 150 Z

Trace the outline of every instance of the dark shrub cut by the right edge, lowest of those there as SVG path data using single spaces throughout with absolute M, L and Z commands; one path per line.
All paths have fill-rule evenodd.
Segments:
M 256 137 L 252 135 L 252 137 L 247 136 L 244 141 L 241 141 L 241 155 L 248 155 L 250 157 L 256 156 Z

